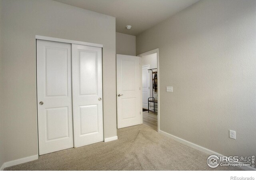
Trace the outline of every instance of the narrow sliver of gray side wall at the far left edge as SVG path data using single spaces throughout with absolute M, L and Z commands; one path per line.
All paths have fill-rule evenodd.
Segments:
M 2 25 L 2 2 L 0 1 L 0 27 Z M 1 38 L 1 28 L 0 28 L 0 38 Z M 0 40 L 0 47 L 2 46 Z M 1 63 L 1 48 L 0 48 L 0 167 L 4 164 L 4 121 L 2 118 L 2 63 Z

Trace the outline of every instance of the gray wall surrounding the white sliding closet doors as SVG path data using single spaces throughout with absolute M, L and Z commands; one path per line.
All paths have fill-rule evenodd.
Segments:
M 2 0 L 5 161 L 38 154 L 36 35 L 103 44 L 104 138 L 116 136 L 115 30 L 114 17 L 59 2 Z

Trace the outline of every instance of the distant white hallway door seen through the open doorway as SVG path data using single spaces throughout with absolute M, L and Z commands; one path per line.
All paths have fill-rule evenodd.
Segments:
M 150 66 L 142 66 L 142 108 L 148 109 L 148 98 L 150 97 Z

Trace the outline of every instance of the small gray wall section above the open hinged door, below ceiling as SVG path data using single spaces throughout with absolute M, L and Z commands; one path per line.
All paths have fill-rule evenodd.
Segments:
M 116 54 L 136 56 L 136 36 L 116 32 Z

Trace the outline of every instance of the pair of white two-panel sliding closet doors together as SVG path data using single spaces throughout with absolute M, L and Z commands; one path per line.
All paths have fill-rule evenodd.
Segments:
M 102 48 L 36 42 L 39 155 L 103 141 Z

